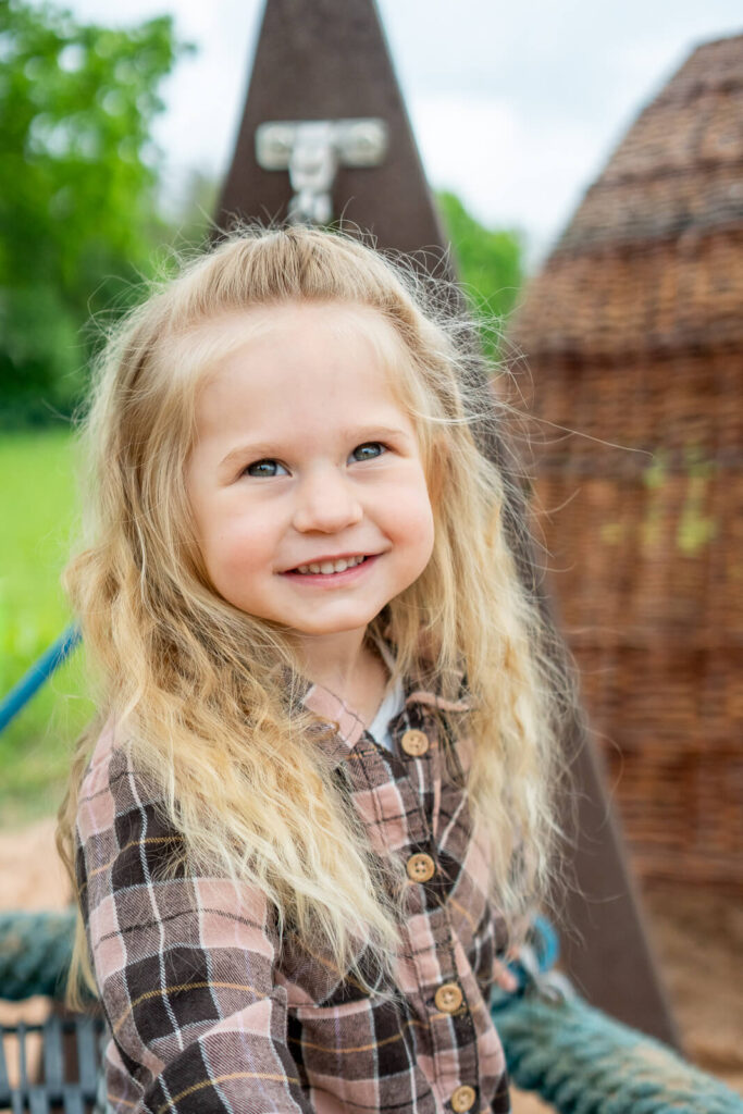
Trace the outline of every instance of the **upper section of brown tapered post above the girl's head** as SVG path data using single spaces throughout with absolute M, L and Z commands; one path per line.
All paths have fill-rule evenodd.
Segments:
M 255 129 L 270 120 L 379 116 L 390 146 L 373 170 L 341 167 L 333 213 L 403 252 L 440 252 L 443 235 L 384 35 L 370 0 L 268 0 L 235 156 L 217 224 L 231 215 L 284 218 L 289 174 L 255 162 Z

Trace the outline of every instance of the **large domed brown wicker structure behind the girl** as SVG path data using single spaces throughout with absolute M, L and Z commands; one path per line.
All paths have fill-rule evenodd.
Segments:
M 535 528 L 635 867 L 743 883 L 743 36 L 642 113 L 512 338 L 546 419 Z

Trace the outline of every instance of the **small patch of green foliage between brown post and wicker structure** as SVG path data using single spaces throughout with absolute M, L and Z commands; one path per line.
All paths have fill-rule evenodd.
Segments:
M 495 328 L 502 329 L 524 282 L 524 244 L 516 232 L 486 228 L 451 193 L 436 195 L 441 219 L 451 238 L 454 263 L 491 354 L 498 346 Z

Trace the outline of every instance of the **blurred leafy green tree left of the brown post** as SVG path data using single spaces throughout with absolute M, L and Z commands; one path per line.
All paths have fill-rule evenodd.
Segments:
M 96 341 L 81 329 L 149 271 L 169 17 L 114 29 L 0 0 L 0 421 L 69 412 Z

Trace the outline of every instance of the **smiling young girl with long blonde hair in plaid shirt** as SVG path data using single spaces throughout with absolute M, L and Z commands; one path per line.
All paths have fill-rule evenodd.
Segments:
M 100 716 L 60 841 L 114 1111 L 509 1110 L 489 994 L 566 690 L 446 303 L 251 228 L 104 354 L 68 570 Z

